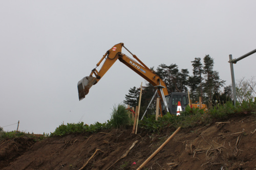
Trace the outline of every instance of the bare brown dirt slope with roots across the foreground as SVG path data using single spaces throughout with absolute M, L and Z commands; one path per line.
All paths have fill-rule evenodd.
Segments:
M 217 122 L 229 123 L 181 129 L 142 169 L 256 169 L 255 116 L 236 114 Z M 156 135 L 138 129 L 135 135 L 131 128 L 40 142 L 1 141 L 0 169 L 79 169 L 97 149 L 83 169 L 137 169 L 176 130 Z M 136 140 L 127 156 L 118 160 Z

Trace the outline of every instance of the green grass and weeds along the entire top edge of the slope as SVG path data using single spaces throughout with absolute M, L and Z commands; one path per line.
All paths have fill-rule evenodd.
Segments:
M 256 99 L 244 101 L 241 104 L 237 104 L 236 107 L 233 106 L 231 102 L 228 102 L 223 105 L 216 105 L 212 107 L 212 109 L 208 110 L 208 112 L 204 112 L 199 108 L 190 108 L 186 107 L 185 111 L 181 112 L 180 116 L 171 115 L 167 113 L 166 115 L 160 117 L 158 120 L 155 119 L 155 115 L 148 115 L 143 120 L 139 120 L 139 126 L 150 133 L 160 133 L 163 129 L 168 127 L 196 127 L 200 125 L 209 125 L 215 119 L 224 119 L 229 117 L 232 114 L 236 113 L 251 113 L 256 114 Z M 53 133 L 45 134 L 44 136 L 63 136 L 71 133 L 83 133 L 90 132 L 95 133 L 101 131 L 103 129 L 112 129 L 112 128 L 125 128 L 127 126 L 131 126 L 132 120 L 129 114 L 127 113 L 126 107 L 124 105 L 117 105 L 113 108 L 111 113 L 111 119 L 105 123 L 91 124 L 90 126 L 84 124 L 83 122 L 77 124 L 67 124 L 60 125 L 55 129 Z M 1 129 L 1 128 L 0 128 Z M 12 139 L 15 137 L 35 137 L 33 134 L 25 133 L 25 132 L 5 132 L 0 131 L 0 140 L 1 139 Z

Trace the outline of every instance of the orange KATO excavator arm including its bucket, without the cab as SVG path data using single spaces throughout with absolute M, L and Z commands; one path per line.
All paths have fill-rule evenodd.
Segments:
M 151 83 L 156 89 L 159 89 L 158 93 L 161 96 L 161 100 L 163 104 L 167 108 L 165 95 L 168 95 L 168 91 L 166 89 L 165 83 L 162 81 L 162 79 L 160 79 L 159 76 L 155 74 L 154 71 L 148 68 L 143 62 L 141 62 L 137 58 L 137 56 L 133 55 L 129 50 L 127 51 L 131 53 L 137 61 L 122 54 L 121 53 L 122 47 L 124 47 L 127 50 L 127 48 L 124 46 L 123 43 L 114 45 L 109 51 L 105 53 L 105 55 L 103 55 L 101 60 L 96 64 L 96 68 L 97 68 L 100 65 L 100 63 L 105 59 L 99 71 L 97 71 L 97 69 L 94 68 L 89 77 L 84 77 L 82 80 L 78 82 L 77 87 L 78 87 L 79 100 L 82 100 L 83 98 L 85 98 L 86 95 L 89 93 L 89 89 L 104 76 L 106 71 L 108 71 L 110 67 L 117 60 L 119 60 L 120 62 L 125 64 L 127 67 L 135 71 L 138 75 L 140 75 L 146 81 Z M 93 75 L 95 77 L 93 77 Z

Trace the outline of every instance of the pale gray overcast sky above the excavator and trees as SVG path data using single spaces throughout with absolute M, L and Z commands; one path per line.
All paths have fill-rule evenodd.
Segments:
M 238 58 L 256 48 L 255 6 L 234 0 L 0 1 L 0 126 L 19 120 L 20 131 L 50 133 L 62 122 L 106 122 L 144 79 L 117 61 L 82 101 L 77 82 L 120 42 L 148 67 L 176 63 L 190 74 L 191 61 L 209 54 L 229 85 L 229 54 Z M 255 76 L 255 55 L 234 65 L 236 79 Z

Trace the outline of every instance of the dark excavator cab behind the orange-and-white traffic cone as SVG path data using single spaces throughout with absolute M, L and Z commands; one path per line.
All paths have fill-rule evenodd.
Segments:
M 170 114 L 177 114 L 178 102 L 181 104 L 182 111 L 185 110 L 186 106 L 188 105 L 188 99 L 186 93 L 183 92 L 173 92 L 165 96 L 168 110 Z M 163 113 L 165 113 L 165 108 L 162 108 Z

